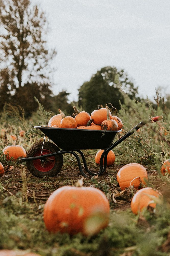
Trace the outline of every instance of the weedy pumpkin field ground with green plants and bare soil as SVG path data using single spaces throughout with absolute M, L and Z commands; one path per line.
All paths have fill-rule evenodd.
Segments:
M 59 187 L 74 186 L 82 176 L 76 159 L 69 154 L 63 155 L 63 167 L 56 177 L 37 178 L 25 163 L 7 161 L 2 151 L 6 145 L 16 143 L 28 151 L 43 140 L 41 131 L 33 126 L 46 125 L 51 113 L 39 105 L 33 117 L 25 120 L 19 108 L 6 106 L 0 120 L 0 162 L 5 167 L 0 178 L 0 249 L 24 250 L 42 256 L 170 255 L 170 180 L 160 172 L 162 163 L 169 159 L 170 116 L 159 106 L 153 109 L 149 103 L 147 106 L 134 101 L 126 104 L 116 114 L 124 124 L 120 136 L 146 117 L 163 115 L 163 120 L 143 126 L 115 147 L 115 163 L 107 167 L 103 175 L 83 179 L 83 186 L 99 188 L 110 202 L 108 227 L 92 237 L 81 233 L 51 234 L 46 230 L 43 209 L 49 195 Z M 23 137 L 19 135 L 20 130 L 26 132 Z M 16 140 L 11 135 L 15 135 Z M 92 172 L 99 170 L 95 164 L 97 150 L 83 151 Z M 139 215 L 132 213 L 130 202 L 137 190 L 131 186 L 122 191 L 116 180 L 117 171 L 128 163 L 143 165 L 148 174 L 146 186 L 162 193 L 163 199 L 155 209 L 148 208 Z

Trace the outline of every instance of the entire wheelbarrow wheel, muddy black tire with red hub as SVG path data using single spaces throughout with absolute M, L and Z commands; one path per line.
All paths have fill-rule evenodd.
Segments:
M 34 144 L 27 152 L 27 157 L 41 155 L 43 142 Z M 51 154 L 60 151 L 59 147 L 51 142 L 44 142 L 42 155 Z M 31 174 L 36 177 L 54 177 L 63 166 L 63 155 L 50 156 L 44 159 L 35 159 L 26 161 L 27 168 Z

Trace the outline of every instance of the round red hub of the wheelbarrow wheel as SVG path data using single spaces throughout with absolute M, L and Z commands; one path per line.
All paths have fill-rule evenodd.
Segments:
M 47 155 L 47 154 L 50 154 L 50 153 L 51 152 L 49 150 L 43 149 L 42 154 L 41 154 L 41 150 L 39 150 L 39 151 L 37 151 L 34 154 L 34 156 Z M 48 172 L 55 165 L 55 156 L 47 157 L 47 158 L 44 158 L 42 160 L 36 159 L 36 160 L 33 160 L 32 162 L 33 162 L 34 167 L 38 171 L 40 171 L 40 172 Z

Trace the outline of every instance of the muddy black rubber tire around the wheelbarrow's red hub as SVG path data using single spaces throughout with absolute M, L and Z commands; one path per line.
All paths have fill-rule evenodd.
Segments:
M 35 156 L 35 154 L 38 151 L 40 152 L 42 150 L 42 145 L 43 145 L 43 142 L 38 142 L 38 143 L 34 144 L 28 150 L 26 157 Z M 48 150 L 50 153 L 55 153 L 57 151 L 60 151 L 59 147 L 56 146 L 54 143 L 51 143 L 51 142 L 44 142 L 43 150 Z M 38 154 L 38 155 L 40 155 L 40 154 Z M 60 172 L 60 170 L 63 166 L 63 155 L 60 154 L 60 155 L 53 156 L 53 159 L 54 158 L 55 158 L 55 163 L 54 163 L 54 160 L 53 160 L 53 166 L 51 167 L 50 170 L 45 171 L 45 172 L 41 171 L 41 170 L 38 170 L 36 168 L 36 166 L 34 165 L 35 160 L 26 161 L 26 165 L 27 165 L 27 168 L 28 168 L 29 172 L 32 175 L 34 175 L 35 177 L 44 177 L 44 176 L 54 177 Z M 44 160 L 45 161 L 50 161 L 49 158 L 45 158 Z M 40 160 L 38 159 L 38 161 L 40 161 Z

